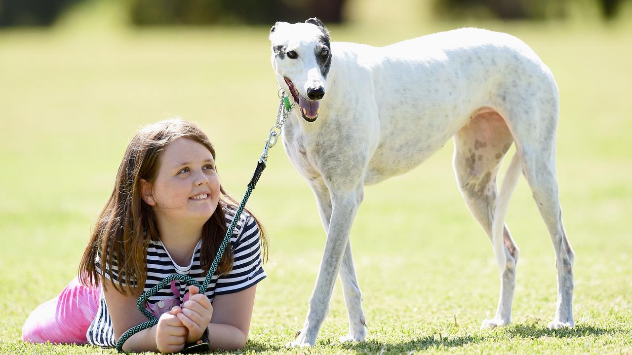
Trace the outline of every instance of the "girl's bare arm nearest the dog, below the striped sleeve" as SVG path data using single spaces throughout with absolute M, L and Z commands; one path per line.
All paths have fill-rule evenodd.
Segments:
M 235 350 L 246 345 L 256 291 L 257 285 L 214 298 L 209 324 L 211 349 Z

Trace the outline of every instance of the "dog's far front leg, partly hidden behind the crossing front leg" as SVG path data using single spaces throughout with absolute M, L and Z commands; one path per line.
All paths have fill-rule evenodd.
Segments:
M 331 221 L 331 198 L 329 190 L 324 184 L 312 184 L 312 191 L 316 197 L 320 220 L 325 232 L 329 230 Z M 362 311 L 362 292 L 358 284 L 358 278 L 353 267 L 353 254 L 351 253 L 351 236 L 344 250 L 343 263 L 338 272 L 343 286 L 344 303 L 349 316 L 349 333 L 340 337 L 341 342 L 358 342 L 367 338 L 367 318 Z

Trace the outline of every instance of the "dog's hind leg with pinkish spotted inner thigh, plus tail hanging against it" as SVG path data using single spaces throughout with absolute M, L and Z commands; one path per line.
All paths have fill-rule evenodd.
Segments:
M 518 247 L 514 244 L 504 217 L 509 197 L 520 176 L 519 162 L 514 156 L 501 194 L 498 195 L 496 175 L 502 157 L 511 147 L 513 138 L 504 119 L 495 111 L 482 111 L 454 135 L 454 171 L 459 190 L 471 214 L 492 241 L 501 274 L 501 292 L 494 318 L 482 327 L 497 327 L 511 322 L 511 303 L 516 288 Z

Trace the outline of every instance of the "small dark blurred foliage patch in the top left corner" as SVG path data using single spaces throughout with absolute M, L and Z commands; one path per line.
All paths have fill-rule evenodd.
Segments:
M 80 0 L 0 0 L 0 27 L 50 26 Z

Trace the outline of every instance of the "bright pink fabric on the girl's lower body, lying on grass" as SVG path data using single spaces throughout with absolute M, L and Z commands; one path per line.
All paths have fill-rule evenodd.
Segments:
M 75 277 L 56 298 L 40 304 L 22 327 L 25 342 L 87 344 L 86 332 L 99 310 L 99 286 L 83 286 Z

